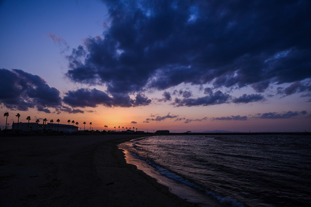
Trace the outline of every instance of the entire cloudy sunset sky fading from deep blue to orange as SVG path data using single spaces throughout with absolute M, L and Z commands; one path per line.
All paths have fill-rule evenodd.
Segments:
M 0 1 L 6 123 L 311 131 L 311 2 Z

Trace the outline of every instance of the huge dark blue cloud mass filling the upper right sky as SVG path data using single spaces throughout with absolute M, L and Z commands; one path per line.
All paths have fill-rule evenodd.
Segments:
M 103 2 L 109 27 L 67 57 L 72 81 L 110 94 L 180 83 L 263 92 L 311 77 L 309 0 Z

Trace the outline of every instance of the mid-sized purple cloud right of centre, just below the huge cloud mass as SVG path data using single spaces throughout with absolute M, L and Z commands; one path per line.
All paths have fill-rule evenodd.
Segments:
M 175 106 L 209 106 L 209 105 L 216 105 L 227 103 L 230 99 L 229 94 L 225 94 L 221 91 L 212 92 L 210 88 L 204 89 L 205 94 L 208 94 L 205 97 L 199 98 L 184 98 L 179 99 L 175 98 L 175 102 L 173 105 Z

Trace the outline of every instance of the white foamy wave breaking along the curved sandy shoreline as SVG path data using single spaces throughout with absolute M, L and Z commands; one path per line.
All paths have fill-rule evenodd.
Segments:
M 133 147 L 135 146 L 135 144 L 136 143 L 133 144 Z M 196 188 L 197 190 L 203 191 L 203 192 L 205 192 L 205 194 L 212 196 L 213 198 L 216 198 L 220 203 L 230 204 L 231 206 L 236 206 L 236 207 L 244 207 L 244 205 L 242 203 L 238 202 L 236 199 L 232 198 L 231 196 L 220 196 L 218 193 L 204 189 L 204 188 L 196 185 L 195 183 L 193 183 L 187 179 L 184 179 L 175 173 L 170 172 L 168 169 L 165 169 L 165 168 L 161 167 L 160 165 L 157 165 L 157 164 L 151 162 L 150 160 L 147 160 L 145 158 L 142 158 L 141 156 L 138 156 L 137 154 L 135 154 L 132 151 L 131 151 L 131 154 L 133 156 L 135 156 L 137 159 L 143 160 L 147 164 L 149 164 L 150 166 L 156 168 L 165 177 L 173 179 L 173 180 L 178 181 L 178 182 L 182 182 L 185 185 L 188 185 L 190 187 Z

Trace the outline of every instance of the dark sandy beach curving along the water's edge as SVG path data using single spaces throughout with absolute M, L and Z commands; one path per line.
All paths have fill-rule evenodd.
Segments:
M 0 206 L 195 206 L 126 163 L 136 137 L 0 137 Z

